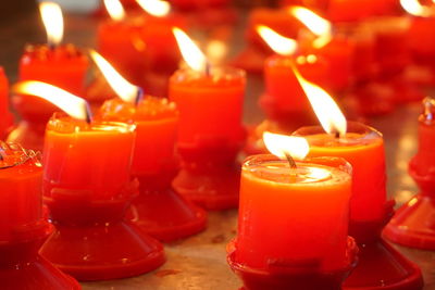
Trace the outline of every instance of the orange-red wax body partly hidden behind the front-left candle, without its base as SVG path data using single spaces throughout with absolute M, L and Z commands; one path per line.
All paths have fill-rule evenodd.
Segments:
M 101 117 L 136 124 L 136 143 L 132 165 L 134 176 L 173 171 L 178 111 L 167 99 L 147 96 L 137 106 L 120 99 L 107 101 Z

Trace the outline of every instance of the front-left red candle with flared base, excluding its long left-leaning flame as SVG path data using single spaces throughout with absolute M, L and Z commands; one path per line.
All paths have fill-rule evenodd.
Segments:
M 135 276 L 165 261 L 162 244 L 124 218 L 137 194 L 134 129 L 57 114 L 47 125 L 42 190 L 57 229 L 40 253 L 80 280 Z

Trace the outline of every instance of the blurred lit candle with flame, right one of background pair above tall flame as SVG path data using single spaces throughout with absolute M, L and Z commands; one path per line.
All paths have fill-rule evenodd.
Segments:
M 332 90 L 343 90 L 349 85 L 352 68 L 353 47 L 345 38 L 333 35 L 330 21 L 319 16 L 309 9 L 290 7 L 288 12 L 299 20 L 313 35 L 314 39 L 303 46 L 306 53 L 313 53 L 327 62 L 328 87 Z

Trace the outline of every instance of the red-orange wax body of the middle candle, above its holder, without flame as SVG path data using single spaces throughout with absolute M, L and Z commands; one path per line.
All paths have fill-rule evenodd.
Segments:
M 178 146 L 216 140 L 239 144 L 246 75 L 241 70 L 212 68 L 210 75 L 179 70 L 170 80 L 170 99 L 179 110 Z

